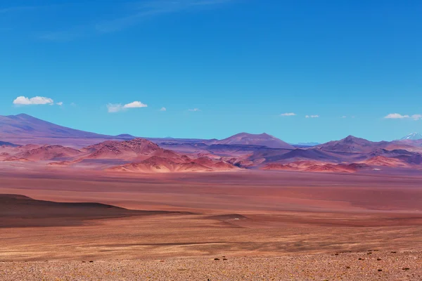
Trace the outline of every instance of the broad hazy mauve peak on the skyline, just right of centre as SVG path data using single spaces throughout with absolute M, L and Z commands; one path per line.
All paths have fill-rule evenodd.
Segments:
M 270 136 L 267 133 L 252 134 L 252 133 L 238 133 L 229 138 L 224 138 L 221 141 L 215 141 L 214 144 L 218 145 L 261 145 L 268 148 L 283 148 L 294 149 L 293 145 L 289 145 L 279 138 Z

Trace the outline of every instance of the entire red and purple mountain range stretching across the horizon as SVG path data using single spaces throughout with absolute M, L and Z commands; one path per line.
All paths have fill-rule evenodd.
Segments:
M 267 133 L 238 133 L 223 140 L 107 136 L 15 115 L 0 117 L 0 140 L 0 162 L 108 172 L 354 173 L 422 168 L 422 140 L 417 134 L 390 142 L 347 136 L 314 146 L 293 146 Z

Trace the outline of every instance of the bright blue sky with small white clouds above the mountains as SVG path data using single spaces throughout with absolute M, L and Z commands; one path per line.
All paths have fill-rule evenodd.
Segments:
M 0 3 L 0 115 L 292 143 L 422 132 L 421 1 L 40 2 Z

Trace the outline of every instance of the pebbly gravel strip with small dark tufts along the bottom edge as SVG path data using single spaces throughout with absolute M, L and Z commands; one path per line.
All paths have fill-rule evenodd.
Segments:
M 422 280 L 422 252 L 2 262 L 0 280 Z

